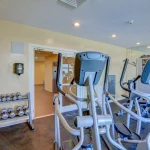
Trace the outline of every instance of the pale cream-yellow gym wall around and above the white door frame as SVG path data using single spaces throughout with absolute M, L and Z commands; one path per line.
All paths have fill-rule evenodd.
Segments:
M 11 41 L 24 42 L 24 55 L 11 54 Z M 124 60 L 127 55 L 127 50 L 125 48 L 1 20 L 0 94 L 28 91 L 29 43 L 75 49 L 80 51 L 100 51 L 108 54 L 111 57 L 110 74 L 116 75 L 117 97 L 119 97 L 122 93 L 119 86 L 119 78 L 123 66 L 122 60 Z M 135 51 L 135 54 L 136 53 L 139 52 Z M 24 63 L 25 72 L 20 77 L 12 73 L 12 64 L 15 62 Z

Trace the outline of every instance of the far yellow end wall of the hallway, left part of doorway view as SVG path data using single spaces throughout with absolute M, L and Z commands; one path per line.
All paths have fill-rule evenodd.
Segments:
M 44 81 L 44 71 L 45 71 L 44 61 L 34 62 L 34 84 L 43 84 Z

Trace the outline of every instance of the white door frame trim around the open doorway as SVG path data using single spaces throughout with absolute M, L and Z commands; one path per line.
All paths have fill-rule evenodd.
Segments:
M 38 44 L 29 44 L 29 70 L 28 70 L 28 76 L 29 76 L 29 92 L 30 92 L 30 99 L 31 99 L 31 110 L 32 112 L 32 119 L 34 119 L 35 116 L 35 105 L 34 105 L 34 51 L 37 49 L 43 49 L 44 51 L 54 52 L 54 53 L 62 53 L 66 55 L 74 55 L 77 53 L 77 50 L 73 49 L 64 49 L 64 48 L 57 48 L 57 47 L 51 47 L 51 46 L 45 46 L 45 45 L 38 45 Z M 63 111 L 70 110 L 69 107 L 63 106 Z M 72 108 L 72 107 L 71 107 Z M 74 107 L 73 107 L 74 108 Z

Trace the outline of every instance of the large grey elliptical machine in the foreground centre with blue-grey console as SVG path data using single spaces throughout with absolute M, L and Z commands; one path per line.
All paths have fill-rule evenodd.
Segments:
M 101 75 L 105 69 L 105 80 L 104 80 L 104 91 L 106 91 L 106 83 L 109 70 L 109 56 L 99 53 L 99 52 L 81 52 L 77 53 L 75 57 L 75 67 L 74 67 L 74 81 L 80 86 L 89 86 L 90 94 L 89 99 L 81 99 L 76 95 L 67 94 L 61 89 L 60 84 L 60 71 L 61 71 L 61 61 L 62 55 L 58 55 L 58 67 L 57 67 L 57 88 L 60 94 L 68 98 L 71 102 L 77 105 L 78 115 L 75 118 L 74 129 L 69 126 L 64 116 L 61 114 L 59 108 L 59 98 L 54 97 L 55 104 L 55 141 L 54 150 L 78 150 L 78 149 L 88 149 L 88 150 L 102 150 L 100 136 L 106 134 L 108 141 L 117 147 L 118 149 L 125 150 L 125 148 L 117 143 L 110 135 L 110 126 L 113 124 L 112 115 L 107 114 L 107 108 L 105 103 L 105 94 L 103 95 L 103 101 L 100 101 L 95 95 L 94 86 L 99 82 Z M 106 66 L 106 67 L 105 67 Z M 87 110 L 89 113 L 83 115 L 83 103 L 86 103 Z M 97 114 L 96 105 L 101 108 L 101 114 Z M 70 148 L 65 148 L 63 142 L 61 142 L 60 136 L 60 122 L 63 127 L 72 135 L 79 137 L 78 143 L 75 145 L 73 141 L 68 141 Z M 85 146 L 83 144 L 85 137 L 85 129 L 89 128 L 91 130 L 91 143 Z M 72 143 L 72 144 L 70 144 Z

